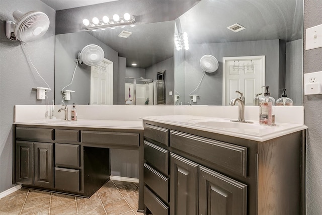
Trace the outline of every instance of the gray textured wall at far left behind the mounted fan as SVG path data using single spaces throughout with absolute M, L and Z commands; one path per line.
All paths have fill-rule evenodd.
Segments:
M 12 124 L 14 105 L 44 105 L 37 100 L 36 87 L 47 87 L 28 65 L 20 42 L 12 42 L 5 35 L 5 20 L 14 21 L 12 13 L 20 10 L 41 11 L 49 17 L 47 33 L 37 41 L 26 44 L 30 58 L 40 75 L 52 89 L 47 93 L 54 99 L 55 11 L 39 0 L 0 1 L 0 193 L 12 185 Z M 43 113 L 45 115 L 45 113 Z

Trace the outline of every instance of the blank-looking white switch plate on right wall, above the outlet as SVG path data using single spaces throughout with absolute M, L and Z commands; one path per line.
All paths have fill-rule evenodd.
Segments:
M 322 47 L 322 24 L 306 29 L 305 50 Z

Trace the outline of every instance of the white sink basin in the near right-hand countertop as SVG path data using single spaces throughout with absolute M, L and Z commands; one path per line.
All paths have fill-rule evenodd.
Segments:
M 259 124 L 250 124 L 243 122 L 232 122 L 228 119 L 192 119 L 189 120 L 189 123 L 199 125 L 199 126 L 207 126 L 218 129 L 267 129 L 267 126 L 261 126 Z

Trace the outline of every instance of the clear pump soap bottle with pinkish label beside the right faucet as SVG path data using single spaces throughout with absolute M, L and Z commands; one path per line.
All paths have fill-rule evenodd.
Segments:
M 260 99 L 260 124 L 275 125 L 275 99 L 271 97 L 268 89 L 269 86 L 265 86 L 264 97 Z

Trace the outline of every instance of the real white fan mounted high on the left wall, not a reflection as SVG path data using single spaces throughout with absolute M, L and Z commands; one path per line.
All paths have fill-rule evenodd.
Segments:
M 15 11 L 13 16 L 16 23 L 6 21 L 6 36 L 10 40 L 18 39 L 29 43 L 42 37 L 49 28 L 49 19 L 42 12 L 30 11 L 23 14 Z

